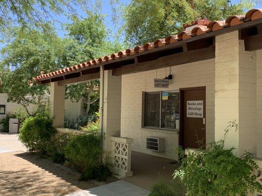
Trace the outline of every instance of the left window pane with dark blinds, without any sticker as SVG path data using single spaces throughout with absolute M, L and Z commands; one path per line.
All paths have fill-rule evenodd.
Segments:
M 160 92 L 145 93 L 144 125 L 160 127 Z

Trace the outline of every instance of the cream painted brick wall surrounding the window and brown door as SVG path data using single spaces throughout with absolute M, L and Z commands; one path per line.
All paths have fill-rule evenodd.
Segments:
M 154 78 L 164 78 L 168 74 L 173 75 L 169 89 L 154 88 Z M 132 150 L 177 159 L 178 134 L 176 131 L 142 128 L 142 92 L 206 86 L 206 142 L 213 142 L 215 135 L 214 77 L 215 59 L 122 75 L 121 137 L 134 139 Z M 146 149 L 146 136 L 165 138 L 165 152 Z

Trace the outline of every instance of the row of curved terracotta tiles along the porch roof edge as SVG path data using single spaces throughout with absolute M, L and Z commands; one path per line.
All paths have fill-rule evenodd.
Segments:
M 157 39 L 154 42 L 145 43 L 143 46 L 136 46 L 133 49 L 126 49 L 124 51 L 118 51 L 114 54 L 100 57 L 98 59 L 89 60 L 82 64 L 60 69 L 55 72 L 51 72 L 47 74 L 41 72 L 40 75 L 36 76 L 33 79 L 35 79 L 37 83 L 40 83 L 41 80 L 48 79 L 49 77 L 53 77 L 55 75 L 69 73 L 75 70 L 81 70 L 82 68 L 85 68 L 85 67 L 90 67 L 90 66 L 94 66 L 100 63 L 107 62 L 107 61 L 112 61 L 116 58 L 122 58 L 124 56 L 129 56 L 135 53 L 144 52 L 149 49 L 154 49 L 157 47 L 165 46 L 167 44 L 179 42 L 180 40 L 189 39 L 193 36 L 198 36 L 198 35 L 208 33 L 211 31 L 216 31 L 222 28 L 226 28 L 228 26 L 239 25 L 244 22 L 253 21 L 256 19 L 260 19 L 260 18 L 262 18 L 262 9 L 251 9 L 245 15 L 230 16 L 226 19 L 226 21 L 211 21 L 210 22 L 207 19 L 196 20 L 196 21 L 193 21 L 191 24 L 183 25 L 184 28 L 188 26 L 192 26 L 192 25 L 197 25 L 196 27 L 192 28 L 192 30 L 190 31 L 181 31 L 177 35 L 169 35 L 166 38 Z

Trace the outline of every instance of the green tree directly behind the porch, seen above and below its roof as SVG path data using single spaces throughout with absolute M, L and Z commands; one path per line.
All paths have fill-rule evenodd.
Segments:
M 68 37 L 66 42 L 65 61 L 69 65 L 85 62 L 100 56 L 119 51 L 121 45 L 107 40 L 108 29 L 101 15 L 89 15 L 79 20 L 72 18 L 73 23 L 66 25 Z M 86 114 L 99 109 L 99 80 L 69 84 L 66 86 L 66 97 L 73 101 L 82 99 L 86 106 Z M 92 103 L 92 104 L 90 104 Z

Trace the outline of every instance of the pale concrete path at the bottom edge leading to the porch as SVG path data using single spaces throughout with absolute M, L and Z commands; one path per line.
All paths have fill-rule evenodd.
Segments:
M 79 191 L 67 196 L 148 196 L 150 191 L 125 180 Z

